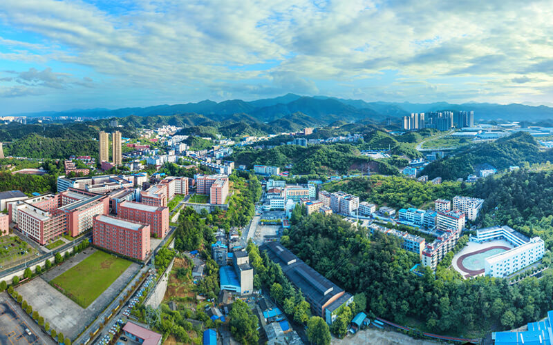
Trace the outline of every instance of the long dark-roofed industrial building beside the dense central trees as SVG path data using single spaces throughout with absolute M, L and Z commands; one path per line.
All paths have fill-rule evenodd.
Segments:
M 301 261 L 279 242 L 267 242 L 259 247 L 267 250 L 269 258 L 279 264 L 284 275 L 301 290 L 311 306 L 313 315 L 332 324 L 341 306 L 353 302 L 353 296 Z

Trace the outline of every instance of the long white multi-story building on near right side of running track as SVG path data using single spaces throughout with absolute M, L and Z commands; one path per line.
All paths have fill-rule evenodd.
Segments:
M 545 253 L 545 243 L 540 237 L 506 252 L 485 259 L 485 274 L 491 277 L 506 277 L 538 261 Z

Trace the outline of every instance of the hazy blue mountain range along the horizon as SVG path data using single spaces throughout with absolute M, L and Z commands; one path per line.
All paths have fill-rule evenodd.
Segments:
M 235 114 L 250 115 L 257 121 L 269 124 L 278 119 L 284 119 L 293 114 L 303 114 L 317 119 L 323 124 L 334 121 L 354 122 L 361 120 L 382 121 L 392 117 L 408 115 L 411 112 L 431 112 L 440 110 L 474 110 L 476 120 L 504 120 L 504 121 L 543 121 L 553 119 L 553 108 L 547 106 L 527 106 L 512 103 L 507 105 L 496 103 L 463 103 L 447 102 L 436 103 L 393 103 L 393 102 L 366 102 L 360 99 L 339 99 L 335 97 L 315 96 L 305 97 L 289 93 L 281 97 L 243 101 L 232 99 L 215 102 L 210 100 L 198 103 L 183 103 L 174 105 L 149 106 L 145 108 L 120 108 L 109 110 L 104 108 L 87 110 L 67 110 L 63 112 L 35 112 L 19 115 L 27 117 L 86 117 L 102 119 L 110 117 L 126 117 L 130 115 L 155 116 L 198 114 L 208 119 L 221 121 Z M 397 121 L 396 120 L 396 121 Z M 399 122 L 399 121 L 398 121 Z

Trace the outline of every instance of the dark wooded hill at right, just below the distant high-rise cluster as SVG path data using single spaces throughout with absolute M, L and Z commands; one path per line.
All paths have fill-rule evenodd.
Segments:
M 422 175 L 428 175 L 429 179 L 438 176 L 442 179 L 466 178 L 475 172 L 478 164 L 490 164 L 501 170 L 552 158 L 552 150 L 541 151 L 534 137 L 527 132 L 516 132 L 491 143 L 463 146 L 453 155 L 433 161 L 424 168 Z

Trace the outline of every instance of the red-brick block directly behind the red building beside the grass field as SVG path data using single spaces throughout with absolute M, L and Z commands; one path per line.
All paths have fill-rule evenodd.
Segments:
M 129 221 L 149 224 L 151 235 L 164 238 L 169 231 L 169 208 L 139 202 L 123 201 L 118 216 Z

